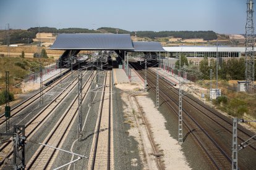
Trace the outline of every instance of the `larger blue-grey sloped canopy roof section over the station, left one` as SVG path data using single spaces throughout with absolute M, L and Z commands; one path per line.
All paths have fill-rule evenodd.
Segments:
M 59 34 L 51 49 L 134 51 L 130 34 Z

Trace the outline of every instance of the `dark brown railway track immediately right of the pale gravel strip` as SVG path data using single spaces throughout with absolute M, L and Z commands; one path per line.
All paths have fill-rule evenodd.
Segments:
M 140 65 L 133 63 L 133 67 L 139 68 L 139 70 L 142 70 L 143 68 L 140 67 Z M 138 71 L 139 74 L 142 76 L 143 71 Z M 148 71 L 150 72 L 150 71 Z M 155 73 L 148 73 L 148 85 L 151 87 L 151 89 L 155 90 Z M 142 76 L 143 77 L 143 76 Z M 171 110 L 173 110 L 173 113 L 176 113 L 178 115 L 178 105 L 175 102 L 174 99 L 172 99 L 169 94 L 169 90 L 162 89 L 163 87 L 160 86 L 160 97 L 163 98 L 164 101 L 166 101 L 167 105 Z M 196 119 L 194 119 L 190 113 L 188 113 L 186 110 L 183 109 L 183 118 L 184 118 L 184 125 L 187 127 L 188 131 L 194 136 L 197 143 L 200 145 L 200 147 L 203 149 L 205 154 L 208 156 L 209 160 L 211 161 L 213 167 L 216 169 L 231 169 L 231 159 L 229 158 L 228 154 L 224 152 L 224 150 L 221 148 L 220 145 L 213 139 L 210 134 L 208 134 L 207 131 L 200 125 L 200 123 L 197 122 Z M 196 132 L 193 132 L 196 131 Z

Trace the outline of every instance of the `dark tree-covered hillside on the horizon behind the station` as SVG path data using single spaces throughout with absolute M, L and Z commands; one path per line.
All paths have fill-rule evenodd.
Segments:
M 33 27 L 28 30 L 10 30 L 10 43 L 11 44 L 28 44 L 32 43 L 36 37 L 36 33 L 116 33 L 119 30 L 119 34 L 130 34 L 135 36 L 135 31 L 127 31 L 119 28 L 101 27 L 98 30 L 89 30 L 87 28 L 51 28 L 51 27 Z M 213 31 L 137 31 L 138 38 L 145 40 L 159 39 L 159 38 L 182 38 L 182 39 L 203 39 L 204 41 L 211 41 L 217 38 L 217 35 Z M 0 30 L 0 44 L 7 44 L 7 31 Z

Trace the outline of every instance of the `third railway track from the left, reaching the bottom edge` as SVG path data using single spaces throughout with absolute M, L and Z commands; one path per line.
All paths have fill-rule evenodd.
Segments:
M 95 78 L 95 74 L 93 75 Z M 90 76 L 86 83 L 83 85 L 83 100 L 88 94 L 91 84 Z M 63 113 L 58 123 L 53 127 L 49 135 L 42 142 L 53 147 L 59 147 L 64 139 L 64 136 L 68 133 L 67 129 L 74 123 L 75 117 L 77 116 L 78 110 L 78 95 L 75 96 L 74 100 L 70 103 L 67 110 Z M 56 158 L 56 150 L 54 148 L 45 147 L 40 145 L 35 154 L 30 158 L 27 164 L 28 169 L 50 169 L 53 166 L 54 159 Z

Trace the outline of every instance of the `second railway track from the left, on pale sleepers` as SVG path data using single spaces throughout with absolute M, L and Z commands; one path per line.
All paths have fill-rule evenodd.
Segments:
M 89 77 L 90 78 L 90 77 Z M 88 78 L 88 79 L 89 79 Z M 37 115 L 35 115 L 28 123 L 25 125 L 25 136 L 29 140 L 33 134 L 42 126 L 43 123 L 51 116 L 57 107 L 59 107 L 60 103 L 66 99 L 67 95 L 70 91 L 74 90 L 77 86 L 77 78 L 75 78 L 69 86 L 67 86 L 63 91 L 58 94 L 51 102 L 49 102 Z M 8 142 L 1 145 L 0 154 L 5 155 L 2 157 L 11 158 L 12 156 L 12 142 L 11 138 Z M 4 165 L 4 160 L 1 160 L 1 167 Z

